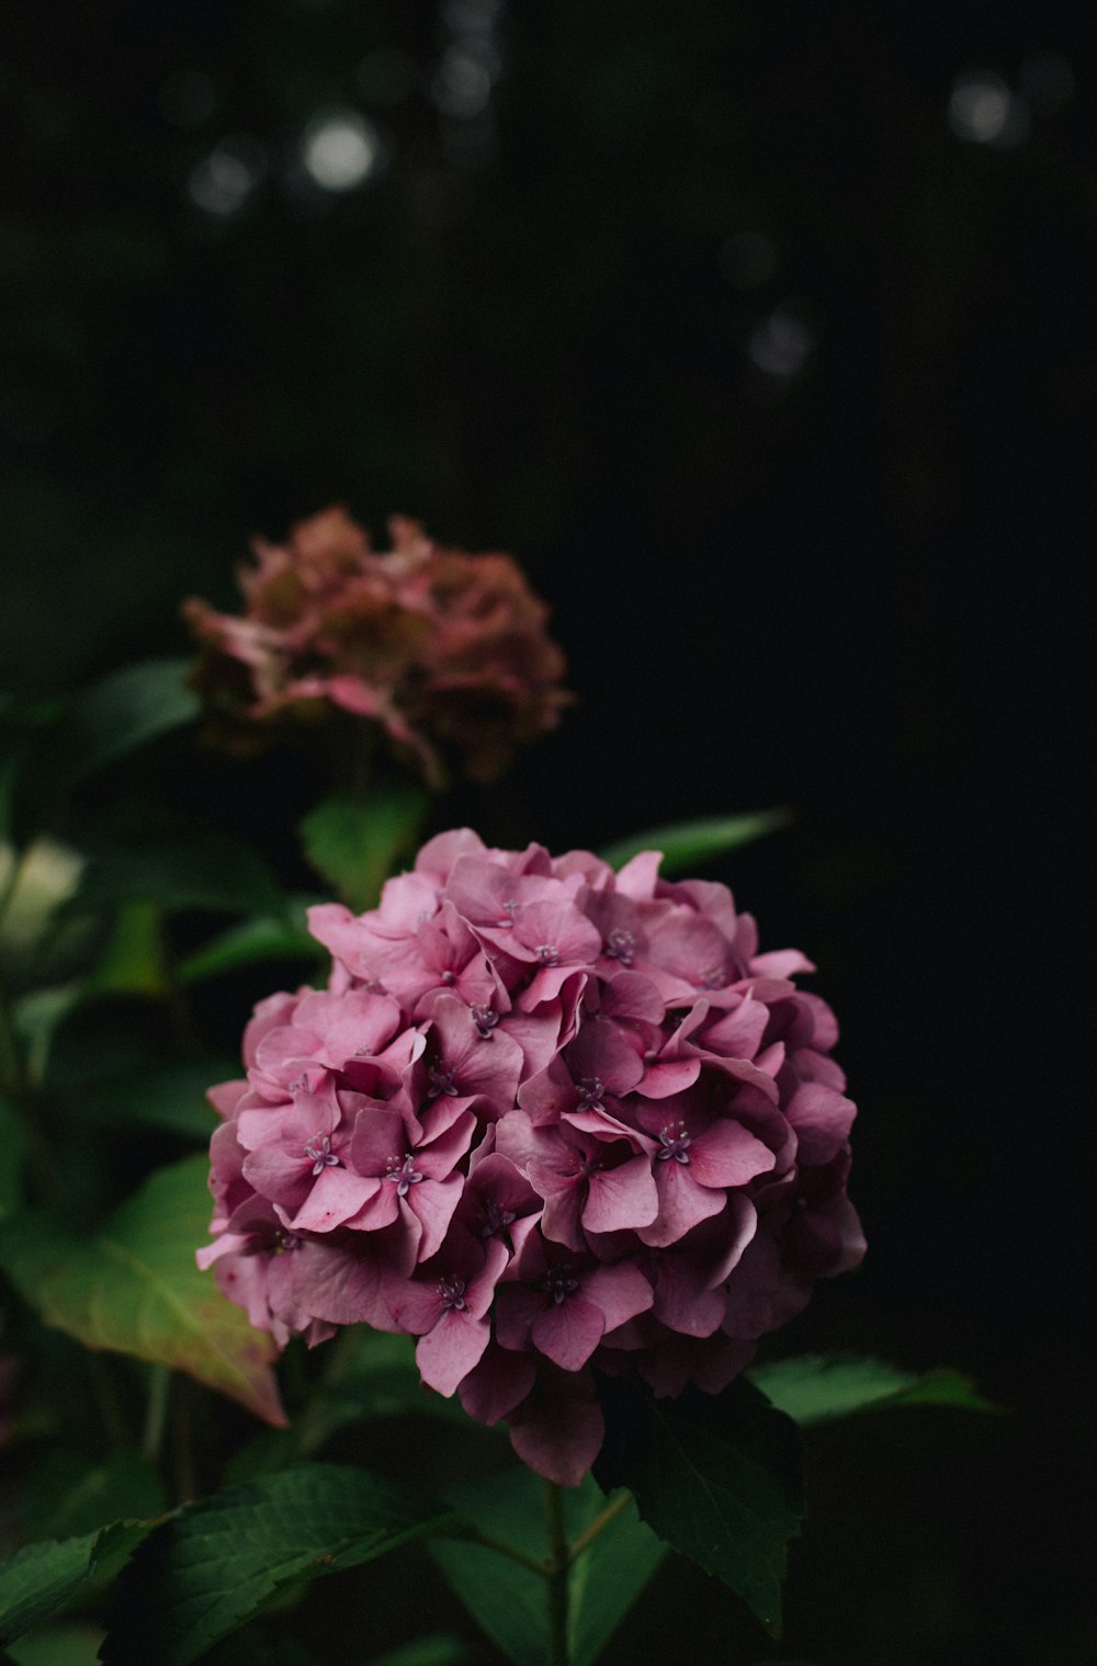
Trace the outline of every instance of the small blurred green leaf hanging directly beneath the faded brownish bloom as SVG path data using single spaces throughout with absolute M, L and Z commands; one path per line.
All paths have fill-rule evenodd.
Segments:
M 325 798 L 298 833 L 305 858 L 348 908 L 372 908 L 400 856 L 408 855 L 430 800 L 422 786 L 382 783 L 368 798 Z

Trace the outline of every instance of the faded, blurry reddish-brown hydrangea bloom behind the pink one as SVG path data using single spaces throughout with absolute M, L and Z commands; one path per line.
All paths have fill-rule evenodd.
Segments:
M 435 786 L 442 751 L 487 780 L 569 698 L 548 610 L 512 556 L 438 548 L 403 516 L 388 530 L 377 551 L 328 508 L 285 545 L 257 540 L 243 616 L 185 603 L 203 643 L 195 686 L 237 746 L 333 706 L 380 725 Z

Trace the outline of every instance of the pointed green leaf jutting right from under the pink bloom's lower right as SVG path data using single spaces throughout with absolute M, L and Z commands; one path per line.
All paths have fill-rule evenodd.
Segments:
M 860 1356 L 804 1354 L 755 1366 L 749 1376 L 772 1406 L 802 1426 L 890 1406 L 997 1409 L 959 1371 L 900 1371 L 882 1359 Z

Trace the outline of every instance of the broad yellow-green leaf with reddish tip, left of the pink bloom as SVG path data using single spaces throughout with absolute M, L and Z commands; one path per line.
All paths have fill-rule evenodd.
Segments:
M 200 1273 L 208 1238 L 208 1160 L 162 1168 L 92 1238 L 45 1215 L 0 1228 L 0 1264 L 20 1294 L 88 1348 L 167 1364 L 283 1423 L 273 1339 Z

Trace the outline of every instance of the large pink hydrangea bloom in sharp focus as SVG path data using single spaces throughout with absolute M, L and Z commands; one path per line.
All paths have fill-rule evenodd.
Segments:
M 410 1333 L 422 1378 L 574 1484 L 594 1369 L 722 1389 L 864 1253 L 837 1026 L 724 885 L 443 833 L 382 903 L 310 928 L 210 1095 L 213 1243 L 280 1343 Z

